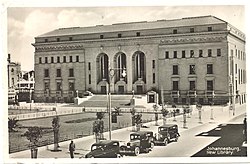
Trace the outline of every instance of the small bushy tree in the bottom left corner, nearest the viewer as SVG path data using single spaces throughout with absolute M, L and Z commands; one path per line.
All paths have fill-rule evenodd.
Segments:
M 31 150 L 31 158 L 37 158 L 37 147 L 39 139 L 42 138 L 42 129 L 40 127 L 29 127 L 23 134 L 30 141 L 29 148 Z

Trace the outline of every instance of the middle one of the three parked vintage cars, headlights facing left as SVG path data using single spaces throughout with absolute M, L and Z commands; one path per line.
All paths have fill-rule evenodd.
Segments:
M 151 131 L 138 131 L 130 134 L 127 145 L 120 147 L 122 155 L 139 155 L 140 152 L 148 153 L 154 147 L 154 136 Z

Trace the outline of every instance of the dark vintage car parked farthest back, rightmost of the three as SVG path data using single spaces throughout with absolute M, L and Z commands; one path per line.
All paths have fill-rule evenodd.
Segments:
M 176 124 L 166 124 L 158 127 L 154 142 L 156 145 L 167 145 L 171 141 L 177 142 L 179 137 L 178 126 Z

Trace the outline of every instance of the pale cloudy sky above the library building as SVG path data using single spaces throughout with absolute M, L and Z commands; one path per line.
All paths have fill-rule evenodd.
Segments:
M 245 33 L 244 6 L 159 6 L 7 9 L 8 53 L 21 69 L 34 69 L 34 37 L 57 28 L 106 25 L 120 22 L 155 21 L 213 15 Z

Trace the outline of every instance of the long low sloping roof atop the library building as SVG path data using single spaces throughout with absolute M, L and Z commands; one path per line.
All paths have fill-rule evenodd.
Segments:
M 39 37 L 53 37 L 65 35 L 79 35 L 79 34 L 94 34 L 94 33 L 108 33 L 108 32 L 122 32 L 122 31 L 139 31 L 148 29 L 181 27 L 181 26 L 197 26 L 197 25 L 210 25 L 227 23 L 214 16 L 200 16 L 200 17 L 187 17 L 182 19 L 173 20 L 157 20 L 157 21 L 142 21 L 142 22 L 129 22 L 129 23 L 116 23 L 112 25 L 96 25 L 90 27 L 70 27 L 59 28 L 48 33 L 42 34 Z

